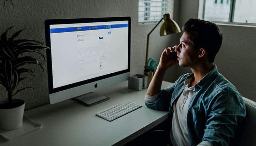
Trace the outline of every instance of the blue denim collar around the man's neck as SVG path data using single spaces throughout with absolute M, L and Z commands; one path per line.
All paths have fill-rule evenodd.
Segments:
M 214 76 L 218 73 L 218 69 L 217 66 L 214 64 L 213 69 L 207 73 L 203 78 L 201 78 L 197 84 L 195 85 L 195 90 L 198 91 L 201 87 L 203 87 L 206 83 L 208 83 L 209 81 L 211 81 L 212 79 L 214 79 Z M 194 77 L 194 73 L 190 73 L 189 76 L 187 76 L 186 80 Z M 185 81 L 186 81 L 185 80 Z M 184 82 L 185 83 L 185 82 Z M 185 84 L 186 85 L 186 84 Z

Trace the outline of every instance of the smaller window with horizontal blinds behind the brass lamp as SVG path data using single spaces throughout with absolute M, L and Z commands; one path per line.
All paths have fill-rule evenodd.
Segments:
M 139 0 L 139 22 L 157 22 L 163 14 L 173 16 L 174 0 Z

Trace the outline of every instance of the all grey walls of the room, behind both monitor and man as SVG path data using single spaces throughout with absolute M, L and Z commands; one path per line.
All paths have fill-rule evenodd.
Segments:
M 146 35 L 155 24 L 138 24 L 138 0 L 10 0 L 0 3 L 0 33 L 8 27 L 15 26 L 10 31 L 27 28 L 19 38 L 35 39 L 45 42 L 44 20 L 63 18 L 90 17 L 131 17 L 131 75 L 143 74 L 145 62 Z M 3 4 L 5 2 L 5 6 Z M 182 26 L 189 18 L 197 18 L 198 0 L 175 0 L 174 20 Z M 216 56 L 215 63 L 227 79 L 233 83 L 241 94 L 256 101 L 253 90 L 255 74 L 255 28 L 237 26 L 219 26 L 223 32 L 222 48 Z M 181 34 L 159 37 L 159 26 L 150 36 L 149 57 L 159 60 L 161 52 L 168 46 L 179 43 Z M 45 54 L 45 52 L 43 52 Z M 43 61 L 42 59 L 40 59 Z M 43 63 L 46 69 L 46 63 Z M 42 72 L 39 67 L 30 66 L 35 76 L 30 81 L 25 80 L 19 85 L 34 87 L 25 90 L 14 98 L 26 101 L 25 109 L 32 109 L 49 103 L 47 70 Z M 164 80 L 175 81 L 180 75 L 191 72 L 187 68 L 174 66 L 168 69 Z M 0 86 L 0 100 L 7 97 L 6 91 Z

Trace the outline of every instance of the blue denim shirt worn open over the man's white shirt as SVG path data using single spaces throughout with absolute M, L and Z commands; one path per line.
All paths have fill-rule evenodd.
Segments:
M 168 110 L 172 121 L 173 104 L 185 88 L 184 80 L 193 73 L 182 75 L 174 84 L 160 91 L 156 101 L 145 103 L 156 110 Z M 195 85 L 195 95 L 188 104 L 187 130 L 191 146 L 208 141 L 214 146 L 227 146 L 237 125 L 246 115 L 241 94 L 216 65 Z M 171 124 L 171 123 L 170 123 Z

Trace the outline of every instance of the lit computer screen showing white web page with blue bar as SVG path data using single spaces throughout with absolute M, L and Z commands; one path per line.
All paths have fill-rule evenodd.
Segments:
M 50 25 L 53 88 L 128 69 L 128 21 Z

